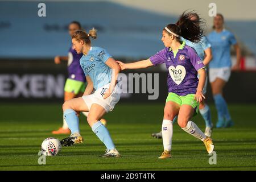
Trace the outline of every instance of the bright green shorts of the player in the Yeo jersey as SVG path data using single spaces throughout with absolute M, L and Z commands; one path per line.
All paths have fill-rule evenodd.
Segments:
M 187 96 L 179 96 L 176 93 L 170 92 L 166 98 L 166 102 L 172 101 L 180 106 L 183 104 L 191 106 L 193 109 L 195 109 L 194 115 L 198 113 L 199 110 L 199 102 L 195 100 L 195 94 L 187 94 Z

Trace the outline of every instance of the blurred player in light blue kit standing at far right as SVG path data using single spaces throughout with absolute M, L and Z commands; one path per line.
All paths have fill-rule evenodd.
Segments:
M 213 59 L 209 64 L 209 80 L 212 86 L 214 102 L 218 113 L 216 127 L 231 127 L 234 125 L 230 117 L 228 105 L 222 96 L 223 88 L 228 82 L 231 70 L 239 69 L 241 51 L 232 32 L 225 30 L 224 17 L 221 14 L 213 19 L 214 31 L 208 35 L 212 45 Z M 234 46 L 237 55 L 236 64 L 232 67 L 230 47 Z

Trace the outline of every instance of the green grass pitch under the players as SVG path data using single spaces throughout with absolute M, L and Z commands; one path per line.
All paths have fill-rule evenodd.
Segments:
M 256 169 L 256 105 L 229 105 L 236 125 L 214 129 L 213 140 L 217 164 L 210 165 L 203 142 L 174 124 L 172 158 L 158 159 L 162 154 L 161 139 L 151 133 L 162 126 L 164 104 L 122 104 L 107 114 L 108 129 L 122 158 L 100 158 L 105 146 L 93 134 L 84 115 L 80 116 L 81 134 L 85 141 L 63 147 L 57 156 L 38 164 L 38 152 L 47 137 L 61 126 L 61 104 L 0 105 L 0 170 L 255 170 Z M 213 105 L 212 118 L 216 122 Z M 192 119 L 204 131 L 198 114 Z

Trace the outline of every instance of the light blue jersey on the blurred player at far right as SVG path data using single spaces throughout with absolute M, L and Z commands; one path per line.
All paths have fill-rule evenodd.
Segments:
M 234 34 L 228 30 L 221 32 L 212 31 L 207 36 L 212 45 L 212 61 L 210 61 L 210 68 L 224 68 L 231 67 L 230 46 L 237 43 Z

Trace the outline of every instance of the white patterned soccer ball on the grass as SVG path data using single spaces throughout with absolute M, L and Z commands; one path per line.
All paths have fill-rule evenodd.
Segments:
M 43 152 L 43 155 L 47 155 L 47 156 L 57 155 L 61 150 L 60 140 L 53 137 L 44 139 L 41 145 L 41 150 Z

